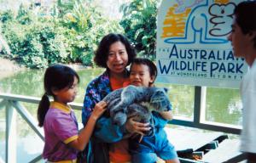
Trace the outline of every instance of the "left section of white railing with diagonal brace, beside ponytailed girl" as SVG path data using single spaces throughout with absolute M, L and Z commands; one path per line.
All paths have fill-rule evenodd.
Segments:
M 1 100 L 2 99 L 2 100 Z M 38 127 L 38 121 L 26 110 L 21 104 L 30 103 L 38 104 L 40 98 L 32 98 L 15 94 L 0 93 L 0 111 L 5 109 L 5 162 L 13 163 L 16 161 L 16 112 L 21 115 L 22 119 L 32 128 L 34 132 L 44 141 L 44 130 Z M 71 104 L 73 110 L 82 110 L 82 104 Z M 29 162 L 37 162 L 42 159 L 42 155 L 38 155 Z M 1 160 L 1 158 L 0 158 Z M 3 159 L 2 159 L 3 160 Z M 2 162 L 2 161 L 0 161 Z

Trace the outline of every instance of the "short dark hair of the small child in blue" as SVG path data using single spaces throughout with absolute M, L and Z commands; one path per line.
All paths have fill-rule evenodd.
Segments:
M 135 58 L 132 60 L 131 65 L 147 65 L 149 69 L 149 75 L 154 76 L 154 80 L 157 76 L 157 68 L 156 65 L 154 65 L 154 62 L 152 62 L 149 59 L 143 59 L 143 58 Z M 154 81 L 153 81 L 154 82 Z

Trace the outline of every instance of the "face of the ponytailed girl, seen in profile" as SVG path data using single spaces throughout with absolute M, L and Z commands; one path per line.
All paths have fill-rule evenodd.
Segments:
M 55 94 L 55 101 L 62 104 L 73 102 L 78 93 L 78 82 L 78 78 L 74 76 L 73 85 L 71 87 L 53 91 Z

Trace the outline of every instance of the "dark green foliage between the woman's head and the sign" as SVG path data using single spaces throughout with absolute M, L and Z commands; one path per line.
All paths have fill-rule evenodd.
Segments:
M 133 42 L 140 56 L 155 59 L 156 16 L 158 0 L 132 0 L 124 3 L 120 10 L 127 37 Z

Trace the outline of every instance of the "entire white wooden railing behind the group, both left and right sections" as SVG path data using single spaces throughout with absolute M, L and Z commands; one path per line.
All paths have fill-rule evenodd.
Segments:
M 195 88 L 195 110 L 194 110 L 194 120 L 182 120 L 182 119 L 174 119 L 171 121 L 172 124 L 176 124 L 179 126 L 190 126 L 195 128 L 201 128 L 206 130 L 218 131 L 218 132 L 227 132 L 227 133 L 235 133 L 239 134 L 241 132 L 241 127 L 239 126 L 231 126 L 231 125 L 224 125 L 221 123 L 210 123 L 204 121 L 204 110 L 201 108 L 203 104 L 201 99 L 201 94 L 203 94 L 203 90 L 201 87 Z M 200 99 L 200 100 L 197 100 Z M 196 101 L 197 100 L 197 101 Z M 35 120 L 34 117 L 26 110 L 26 108 L 21 104 L 22 103 L 30 103 L 30 104 L 38 104 L 40 98 L 33 98 L 27 96 L 20 96 L 15 94 L 7 94 L 7 93 L 0 93 L 0 111 L 3 109 L 6 112 L 6 163 L 17 162 L 16 161 L 16 112 L 19 113 L 26 121 L 26 123 L 32 128 L 32 130 L 37 133 L 38 137 L 44 141 L 44 131 L 42 128 L 38 127 L 38 122 Z M 73 110 L 82 110 L 82 104 L 78 103 L 71 103 Z M 37 162 L 38 160 L 42 159 L 42 155 L 38 155 L 36 158 L 31 160 L 30 162 Z M 1 158 L 0 158 L 1 160 Z

